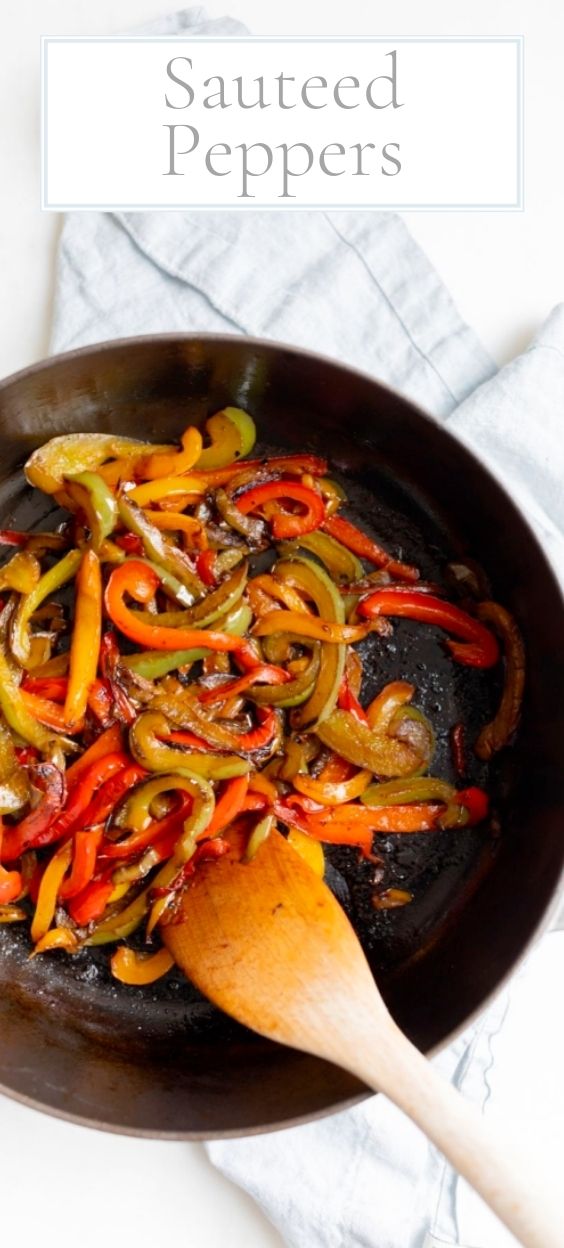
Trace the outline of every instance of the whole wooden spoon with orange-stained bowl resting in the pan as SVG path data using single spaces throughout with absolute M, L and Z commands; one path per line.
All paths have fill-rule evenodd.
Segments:
M 563 1248 L 564 1211 L 532 1159 L 494 1139 L 399 1031 L 343 910 L 280 832 L 248 864 L 202 864 L 162 937 L 233 1018 L 386 1092 L 527 1248 Z

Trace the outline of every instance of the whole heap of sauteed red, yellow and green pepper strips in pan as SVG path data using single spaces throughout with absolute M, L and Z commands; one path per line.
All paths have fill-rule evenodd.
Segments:
M 359 849 L 393 921 L 419 885 L 387 886 L 389 837 L 488 827 L 472 749 L 464 766 L 455 750 L 465 789 L 429 774 L 419 669 L 398 649 L 391 679 L 379 634 L 388 617 L 442 628 L 477 669 L 462 680 L 488 679 L 499 634 L 485 759 L 518 723 L 515 623 L 478 584 L 470 612 L 417 587 L 416 567 L 342 515 L 324 459 L 246 458 L 255 437 L 227 407 L 176 447 L 77 434 L 26 466 L 71 513 L 60 533 L 0 533 L 16 547 L 0 569 L 0 921 L 29 912 L 34 953 L 72 957 L 141 925 L 158 941 L 202 861 L 248 861 L 276 825 L 318 875 L 332 845 L 351 870 Z M 120 945 L 111 967 L 141 990 L 171 958 Z

